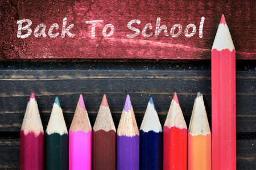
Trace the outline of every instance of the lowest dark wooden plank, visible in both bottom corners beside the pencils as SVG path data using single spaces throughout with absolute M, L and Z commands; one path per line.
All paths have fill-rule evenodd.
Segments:
M 237 140 L 237 169 L 256 166 L 256 140 Z M 0 169 L 19 168 L 19 139 L 0 139 Z

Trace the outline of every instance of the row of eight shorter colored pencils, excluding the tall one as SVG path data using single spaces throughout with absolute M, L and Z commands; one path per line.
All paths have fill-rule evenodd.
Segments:
M 138 129 L 127 95 L 117 132 L 103 96 L 93 129 L 80 95 L 69 132 L 58 97 L 44 134 L 31 94 L 20 132 L 20 169 L 202 169 L 211 168 L 211 134 L 203 95 L 197 93 L 189 129 L 176 92 L 162 129 L 152 97 Z

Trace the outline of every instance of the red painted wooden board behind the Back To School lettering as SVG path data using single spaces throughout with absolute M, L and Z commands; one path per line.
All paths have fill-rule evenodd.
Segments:
M 237 59 L 256 59 L 254 1 L 1 1 L 0 15 L 0 59 L 31 58 L 155 58 L 155 59 L 210 59 L 210 49 L 222 13 L 229 21 L 229 29 L 236 46 Z M 201 17 L 205 17 L 203 37 L 199 38 Z M 63 18 L 67 26 L 74 24 L 71 32 L 75 37 L 65 35 L 52 39 L 48 29 L 53 23 L 59 24 L 61 34 Z M 133 39 L 127 28 L 132 19 L 141 20 L 133 24 L 142 32 L 144 25 L 152 24 L 155 32 L 156 19 L 160 25 L 167 25 L 169 36 L 160 32 L 158 37 L 143 37 L 140 33 Z M 17 20 L 30 19 L 32 34 L 26 39 L 17 35 Z M 104 20 L 97 24 L 96 37 L 91 36 L 91 25 L 85 20 Z M 36 38 L 35 27 L 46 24 L 46 35 Z M 102 36 L 106 24 L 113 24 L 115 31 L 109 38 Z M 181 24 L 183 32 L 171 37 L 172 25 Z M 185 37 L 185 27 L 193 23 L 196 34 Z M 110 29 L 108 29 L 107 33 Z M 55 30 L 56 31 L 56 30 Z M 147 33 L 150 33 L 149 31 Z

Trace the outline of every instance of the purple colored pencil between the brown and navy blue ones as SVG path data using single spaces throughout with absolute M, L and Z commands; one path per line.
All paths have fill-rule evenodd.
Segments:
M 117 129 L 117 169 L 139 169 L 139 129 L 129 95 Z

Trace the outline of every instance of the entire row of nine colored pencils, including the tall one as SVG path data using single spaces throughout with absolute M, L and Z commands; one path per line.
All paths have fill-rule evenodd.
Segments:
M 223 14 L 211 75 L 212 134 L 200 93 L 188 132 L 176 94 L 163 129 L 150 99 L 140 130 L 128 95 L 117 134 L 106 96 L 93 129 L 80 96 L 69 135 L 57 97 L 44 135 L 31 94 L 20 132 L 20 169 L 236 169 L 236 50 Z

